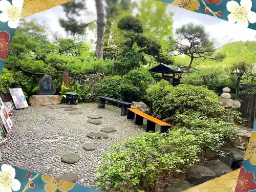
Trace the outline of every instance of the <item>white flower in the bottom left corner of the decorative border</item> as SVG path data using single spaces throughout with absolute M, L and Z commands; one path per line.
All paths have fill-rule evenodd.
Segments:
M 20 189 L 20 182 L 15 178 L 15 169 L 3 164 L 0 171 L 0 192 L 12 192 Z

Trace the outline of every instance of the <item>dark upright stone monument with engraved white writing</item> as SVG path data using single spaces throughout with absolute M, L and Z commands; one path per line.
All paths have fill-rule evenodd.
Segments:
M 45 75 L 39 81 L 39 95 L 54 95 L 56 93 L 56 88 L 50 75 Z

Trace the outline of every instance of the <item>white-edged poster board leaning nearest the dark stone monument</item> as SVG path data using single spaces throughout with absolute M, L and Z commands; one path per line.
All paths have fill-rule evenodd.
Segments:
M 22 91 L 22 88 L 15 88 L 9 90 L 16 109 L 27 108 L 29 106 L 26 97 Z

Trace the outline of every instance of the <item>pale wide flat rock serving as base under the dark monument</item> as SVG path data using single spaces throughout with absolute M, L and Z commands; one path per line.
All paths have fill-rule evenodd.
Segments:
M 60 95 L 32 95 L 29 97 L 29 104 L 31 106 L 47 106 L 59 104 L 60 102 Z

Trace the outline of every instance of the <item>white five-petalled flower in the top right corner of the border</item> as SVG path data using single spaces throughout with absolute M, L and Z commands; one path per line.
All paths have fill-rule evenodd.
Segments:
M 256 23 L 256 13 L 251 11 L 251 7 L 251 0 L 241 0 L 240 5 L 235 1 L 227 2 L 228 21 L 244 27 Z

